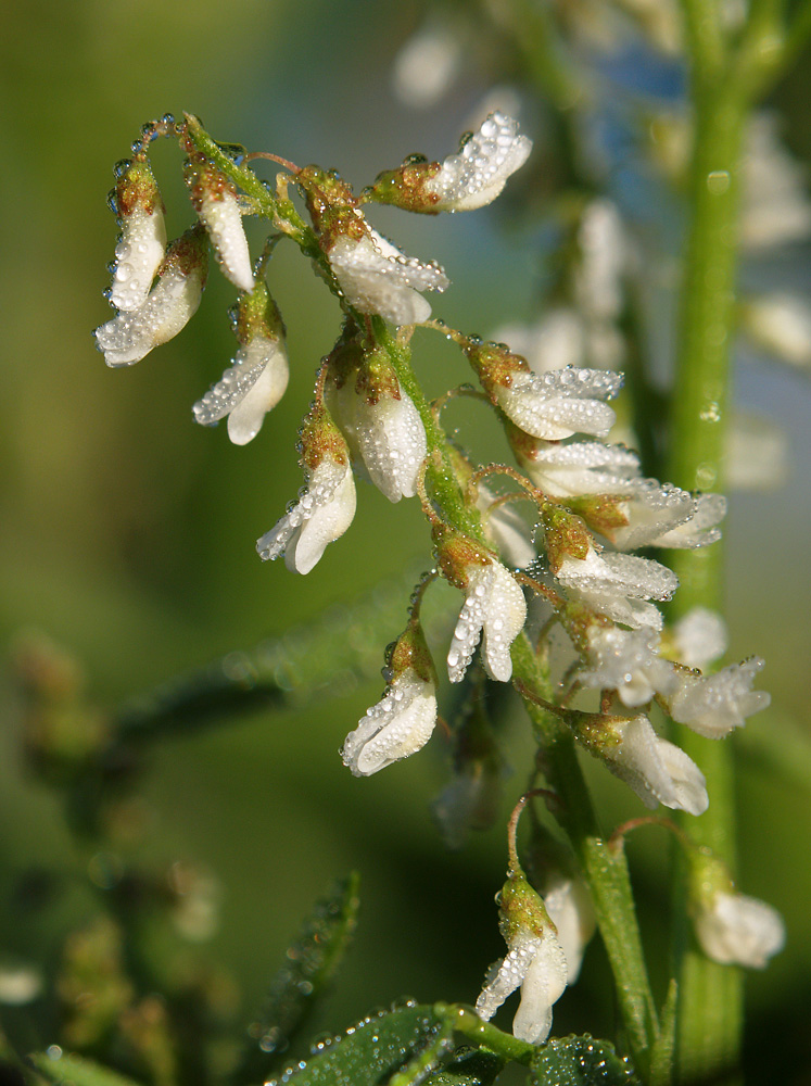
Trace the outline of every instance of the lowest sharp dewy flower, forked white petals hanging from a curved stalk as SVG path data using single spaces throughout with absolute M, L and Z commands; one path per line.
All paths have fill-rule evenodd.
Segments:
M 520 986 L 521 1003 L 512 1020 L 512 1033 L 531 1045 L 540 1045 L 552 1028 L 553 1003 L 567 985 L 566 955 L 543 900 L 520 871 L 511 871 L 507 877 L 499 913 L 509 952 L 481 992 L 476 1011 L 489 1021 Z

